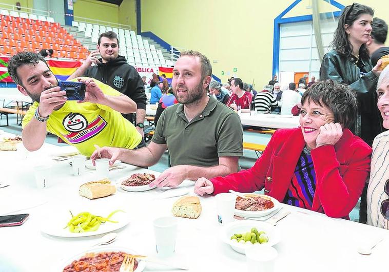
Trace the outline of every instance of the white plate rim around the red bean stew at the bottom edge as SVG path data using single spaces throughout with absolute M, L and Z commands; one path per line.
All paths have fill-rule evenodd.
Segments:
M 71 264 L 75 260 L 79 260 L 81 257 L 85 256 L 87 253 L 120 252 L 120 251 L 125 252 L 125 253 L 129 253 L 132 255 L 137 255 L 137 253 L 134 252 L 134 250 L 131 250 L 131 249 L 128 249 L 125 247 L 119 247 L 119 246 L 95 247 L 92 249 L 85 250 L 82 253 L 76 254 L 71 258 L 66 258 L 66 260 L 59 261 L 58 262 L 59 264 L 55 265 L 55 269 L 53 269 L 52 271 L 62 272 L 66 266 L 68 266 L 69 264 Z M 142 272 L 143 269 L 145 268 L 145 266 L 146 266 L 146 261 L 138 260 L 138 267 L 137 267 L 137 269 L 134 270 L 134 272 Z

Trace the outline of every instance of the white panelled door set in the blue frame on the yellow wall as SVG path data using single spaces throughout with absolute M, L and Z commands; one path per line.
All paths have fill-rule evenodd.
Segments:
M 320 31 L 324 53 L 330 50 L 338 18 L 322 19 Z M 282 24 L 280 29 L 279 78 L 281 88 L 294 82 L 295 73 L 308 72 L 319 78 L 319 58 L 312 21 Z

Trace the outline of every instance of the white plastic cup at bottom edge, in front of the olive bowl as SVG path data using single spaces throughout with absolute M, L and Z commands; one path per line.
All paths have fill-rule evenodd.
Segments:
M 277 250 L 268 245 L 249 246 L 245 250 L 247 258 L 247 271 L 249 272 L 274 272 Z

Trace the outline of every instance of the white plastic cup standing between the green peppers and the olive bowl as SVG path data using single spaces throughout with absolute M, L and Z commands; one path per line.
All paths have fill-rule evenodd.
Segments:
M 168 258 L 174 254 L 177 224 L 177 218 L 172 216 L 160 217 L 153 221 L 155 248 L 159 257 Z

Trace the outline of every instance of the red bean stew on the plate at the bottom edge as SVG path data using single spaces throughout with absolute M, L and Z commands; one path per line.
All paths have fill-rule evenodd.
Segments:
M 87 253 L 79 260 L 73 261 L 64 268 L 64 272 L 119 272 L 124 260 L 125 252 L 101 252 Z M 134 270 L 138 267 L 138 261 L 134 262 Z

